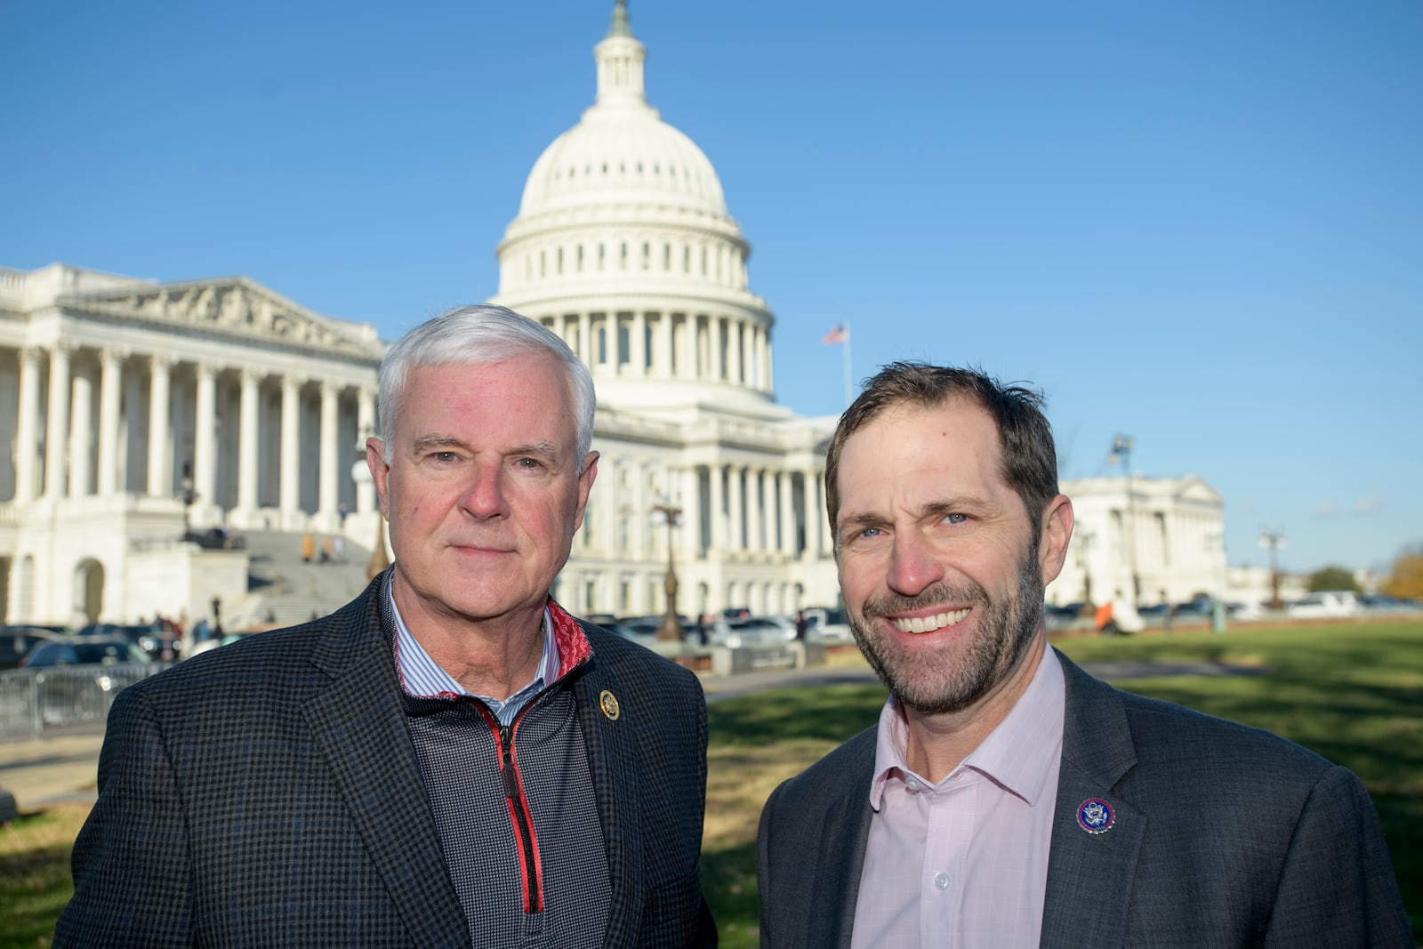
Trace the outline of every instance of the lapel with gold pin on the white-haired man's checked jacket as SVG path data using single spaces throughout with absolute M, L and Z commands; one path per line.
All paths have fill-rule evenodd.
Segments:
M 598 797 L 598 820 L 603 825 L 612 885 L 603 946 L 613 949 L 633 946 L 638 938 L 642 919 L 642 834 L 636 788 L 628 787 L 625 780 L 625 775 L 639 771 L 636 748 L 629 747 L 632 733 L 626 723 L 620 724 L 601 711 L 599 696 L 605 690 L 613 696 L 623 694 L 608 673 L 606 663 L 599 663 L 595 656 L 575 679 L 573 697 L 588 748 L 588 773 Z M 656 714 L 656 710 L 622 709 L 619 717 L 622 714 Z

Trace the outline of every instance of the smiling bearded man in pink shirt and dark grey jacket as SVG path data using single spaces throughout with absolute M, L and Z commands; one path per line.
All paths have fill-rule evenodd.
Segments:
M 840 420 L 840 585 L 889 700 L 767 801 L 761 946 L 1412 946 L 1352 773 L 1049 649 L 1073 511 L 1040 405 L 895 363 Z

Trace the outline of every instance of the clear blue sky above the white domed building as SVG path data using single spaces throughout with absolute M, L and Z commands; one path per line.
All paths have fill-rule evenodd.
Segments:
M 0 265 L 245 273 L 387 337 L 497 289 L 610 0 L 17 0 Z M 1232 563 L 1423 542 L 1423 4 L 633 0 L 716 165 L 777 397 L 894 359 L 1049 397 L 1066 478 L 1198 474 Z

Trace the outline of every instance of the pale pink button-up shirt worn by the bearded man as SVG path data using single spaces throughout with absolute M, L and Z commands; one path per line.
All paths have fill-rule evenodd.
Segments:
M 1063 696 L 1047 649 L 1007 717 L 938 784 L 905 765 L 908 726 L 894 697 L 885 703 L 854 949 L 1037 945 Z

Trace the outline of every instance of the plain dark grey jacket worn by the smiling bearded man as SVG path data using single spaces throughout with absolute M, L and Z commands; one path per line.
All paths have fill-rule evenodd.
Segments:
M 1043 946 L 1412 946 L 1359 780 L 1258 728 L 1066 677 Z M 850 946 L 875 728 L 780 785 L 757 839 L 764 949 Z M 1099 835 L 1077 808 L 1106 800 Z M 1007 949 L 1007 948 L 1005 948 Z

